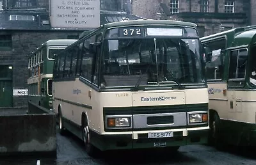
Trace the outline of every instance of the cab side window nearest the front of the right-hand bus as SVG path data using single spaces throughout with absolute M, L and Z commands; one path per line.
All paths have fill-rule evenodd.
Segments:
M 243 86 L 248 57 L 247 49 L 231 51 L 228 86 Z

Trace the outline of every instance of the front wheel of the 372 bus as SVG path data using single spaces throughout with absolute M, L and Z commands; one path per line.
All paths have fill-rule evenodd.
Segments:
M 89 130 L 89 126 L 88 123 L 85 121 L 83 123 L 83 130 L 82 130 L 82 136 L 83 136 L 83 143 L 86 149 L 86 152 L 88 153 L 88 155 L 90 155 L 91 157 L 95 157 L 96 154 L 96 148 L 95 146 L 93 146 L 90 143 L 90 138 L 91 138 L 91 134 L 90 134 L 90 130 Z

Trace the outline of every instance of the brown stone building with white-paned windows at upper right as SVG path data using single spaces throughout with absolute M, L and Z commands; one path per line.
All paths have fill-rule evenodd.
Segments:
M 255 7 L 255 0 L 132 0 L 134 15 L 194 22 L 200 36 L 256 24 Z

